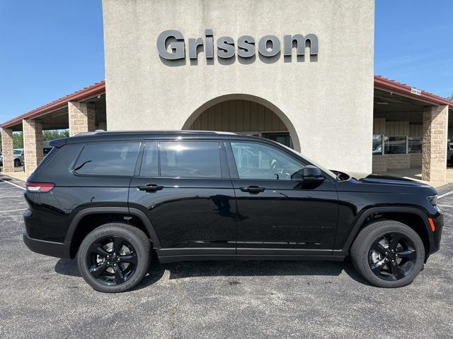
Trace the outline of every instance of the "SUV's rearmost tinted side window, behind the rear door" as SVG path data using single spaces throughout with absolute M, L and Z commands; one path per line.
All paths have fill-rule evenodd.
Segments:
M 140 144 L 92 143 L 85 145 L 74 165 L 84 175 L 134 175 Z

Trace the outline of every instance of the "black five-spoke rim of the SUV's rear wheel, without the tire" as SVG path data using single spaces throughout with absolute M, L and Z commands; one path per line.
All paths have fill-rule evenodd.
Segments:
M 123 237 L 102 237 L 88 249 L 86 264 L 90 274 L 99 283 L 120 285 L 134 274 L 137 254 Z

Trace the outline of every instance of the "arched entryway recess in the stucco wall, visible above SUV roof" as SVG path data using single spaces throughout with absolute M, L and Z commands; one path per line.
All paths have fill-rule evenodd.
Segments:
M 260 136 L 300 150 L 299 138 L 286 115 L 252 95 L 225 95 L 210 100 L 193 112 L 183 129 Z

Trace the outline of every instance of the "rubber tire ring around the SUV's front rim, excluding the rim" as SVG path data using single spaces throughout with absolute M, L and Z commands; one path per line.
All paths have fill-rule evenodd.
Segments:
M 372 243 L 379 237 L 382 237 L 384 234 L 391 232 L 398 232 L 406 235 L 406 237 L 409 237 L 409 239 L 411 239 L 411 241 L 413 242 L 415 251 L 417 253 L 417 259 L 411 272 L 406 275 L 406 277 L 394 281 L 384 280 L 377 277 L 377 275 L 372 272 L 368 263 L 368 253 Z M 376 230 L 370 232 L 367 237 L 365 237 L 363 243 L 360 246 L 359 256 L 359 262 L 356 262 L 355 264 L 357 266 L 360 266 L 360 273 L 362 273 L 364 278 L 367 279 L 370 283 L 379 287 L 401 287 L 410 284 L 423 268 L 423 263 L 425 260 L 425 246 L 423 245 L 423 242 L 418 234 L 414 230 L 412 230 L 411 227 L 408 227 L 401 222 L 387 221 L 386 225 L 378 227 Z

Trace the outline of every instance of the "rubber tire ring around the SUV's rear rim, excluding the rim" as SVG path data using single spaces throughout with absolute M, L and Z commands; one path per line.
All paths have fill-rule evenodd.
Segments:
M 89 272 L 89 268 L 86 263 L 86 256 L 88 255 L 88 249 L 91 244 L 102 237 L 109 236 L 119 236 L 126 239 L 126 241 L 134 247 L 135 253 L 137 254 L 137 267 L 135 268 L 132 277 L 120 285 L 105 285 L 98 282 L 98 280 L 93 278 Z M 137 237 L 137 235 L 133 232 L 130 232 L 130 230 L 127 230 L 127 228 L 118 224 L 103 225 L 102 227 L 98 227 L 96 230 L 89 233 L 81 243 L 77 254 L 77 266 L 79 266 L 79 271 L 86 283 L 91 285 L 94 290 L 99 292 L 125 292 L 137 285 L 147 273 L 149 266 L 149 249 L 144 248 L 139 237 Z

